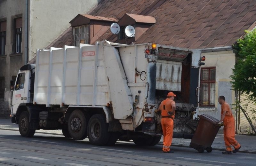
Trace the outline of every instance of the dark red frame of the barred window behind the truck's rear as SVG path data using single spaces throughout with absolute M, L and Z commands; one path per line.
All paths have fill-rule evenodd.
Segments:
M 202 79 L 202 74 L 203 74 L 203 70 L 207 69 L 208 70 L 208 79 L 206 80 L 203 80 Z M 214 75 L 214 79 L 211 79 L 211 69 L 215 69 L 215 75 Z M 207 84 L 207 91 L 208 91 L 208 99 L 207 99 L 207 104 L 204 104 L 203 102 L 205 102 L 203 100 L 204 96 L 204 92 L 203 92 L 203 87 L 202 85 L 203 84 Z M 211 95 L 212 93 L 212 89 L 211 89 L 211 84 L 214 84 L 214 94 Z M 216 102 L 216 99 L 215 99 L 215 96 L 216 96 L 216 67 L 202 67 L 200 69 L 200 103 L 199 105 L 202 106 L 202 107 L 215 107 L 215 102 Z M 212 104 L 211 104 L 211 97 L 212 97 Z

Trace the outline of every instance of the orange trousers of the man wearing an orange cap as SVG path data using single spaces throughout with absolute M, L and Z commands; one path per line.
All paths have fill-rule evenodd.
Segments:
M 163 135 L 164 135 L 163 151 L 169 152 L 170 146 L 172 144 L 173 120 L 171 118 L 162 118 L 161 125 L 162 125 Z

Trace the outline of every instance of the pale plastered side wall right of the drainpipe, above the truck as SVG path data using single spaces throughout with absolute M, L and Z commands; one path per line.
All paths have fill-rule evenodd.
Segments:
M 30 0 L 29 59 L 37 48 L 45 48 L 70 27 L 77 14 L 86 14 L 100 0 Z

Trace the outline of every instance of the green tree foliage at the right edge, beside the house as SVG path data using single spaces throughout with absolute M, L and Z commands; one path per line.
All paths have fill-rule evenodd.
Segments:
M 237 61 L 230 76 L 232 89 L 248 94 L 256 102 L 256 29 L 245 31 L 233 49 L 237 50 Z

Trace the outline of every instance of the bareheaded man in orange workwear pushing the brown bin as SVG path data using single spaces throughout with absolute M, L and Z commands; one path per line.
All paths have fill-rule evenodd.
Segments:
M 231 145 L 235 148 L 233 153 L 236 153 L 241 148 L 241 145 L 235 139 L 235 119 L 232 115 L 229 104 L 225 101 L 224 96 L 219 97 L 219 103 L 221 104 L 221 118 L 219 125 L 221 125 L 223 121 L 224 141 L 226 145 L 226 151 L 222 152 L 222 154 L 231 154 Z

